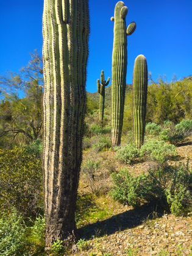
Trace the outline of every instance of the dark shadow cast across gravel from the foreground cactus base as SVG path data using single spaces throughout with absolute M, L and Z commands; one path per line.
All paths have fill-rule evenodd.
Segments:
M 133 210 L 113 215 L 104 221 L 88 224 L 78 229 L 77 232 L 81 238 L 90 240 L 94 237 L 111 235 L 118 230 L 132 229 L 133 227 L 140 226 L 144 221 L 149 219 L 160 218 L 163 214 L 164 211 L 162 208 L 154 206 L 154 204 L 144 204 Z

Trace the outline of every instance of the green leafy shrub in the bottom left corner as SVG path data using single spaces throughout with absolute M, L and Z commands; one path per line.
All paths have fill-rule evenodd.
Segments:
M 0 254 L 1 255 L 23 255 L 26 245 L 26 226 L 22 215 L 18 215 L 16 210 L 12 213 L 2 212 L 0 218 Z

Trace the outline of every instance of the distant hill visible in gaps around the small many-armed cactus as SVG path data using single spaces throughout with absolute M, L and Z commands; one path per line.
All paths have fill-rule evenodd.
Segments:
M 126 84 L 126 93 L 132 90 L 132 84 Z M 87 91 L 87 97 L 90 98 L 91 101 L 99 102 L 99 93 L 89 93 Z M 105 87 L 105 107 L 110 107 L 112 105 L 112 86 L 109 85 Z

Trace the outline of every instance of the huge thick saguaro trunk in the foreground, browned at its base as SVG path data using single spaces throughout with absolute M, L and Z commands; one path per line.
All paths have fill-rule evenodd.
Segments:
M 44 0 L 43 168 L 48 248 L 57 239 L 76 241 L 88 34 L 88 0 Z

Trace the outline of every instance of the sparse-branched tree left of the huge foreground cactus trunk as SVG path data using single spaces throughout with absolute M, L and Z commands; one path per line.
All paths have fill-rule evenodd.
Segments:
M 29 143 L 41 137 L 43 69 L 37 51 L 19 73 L 0 75 L 0 145 Z

